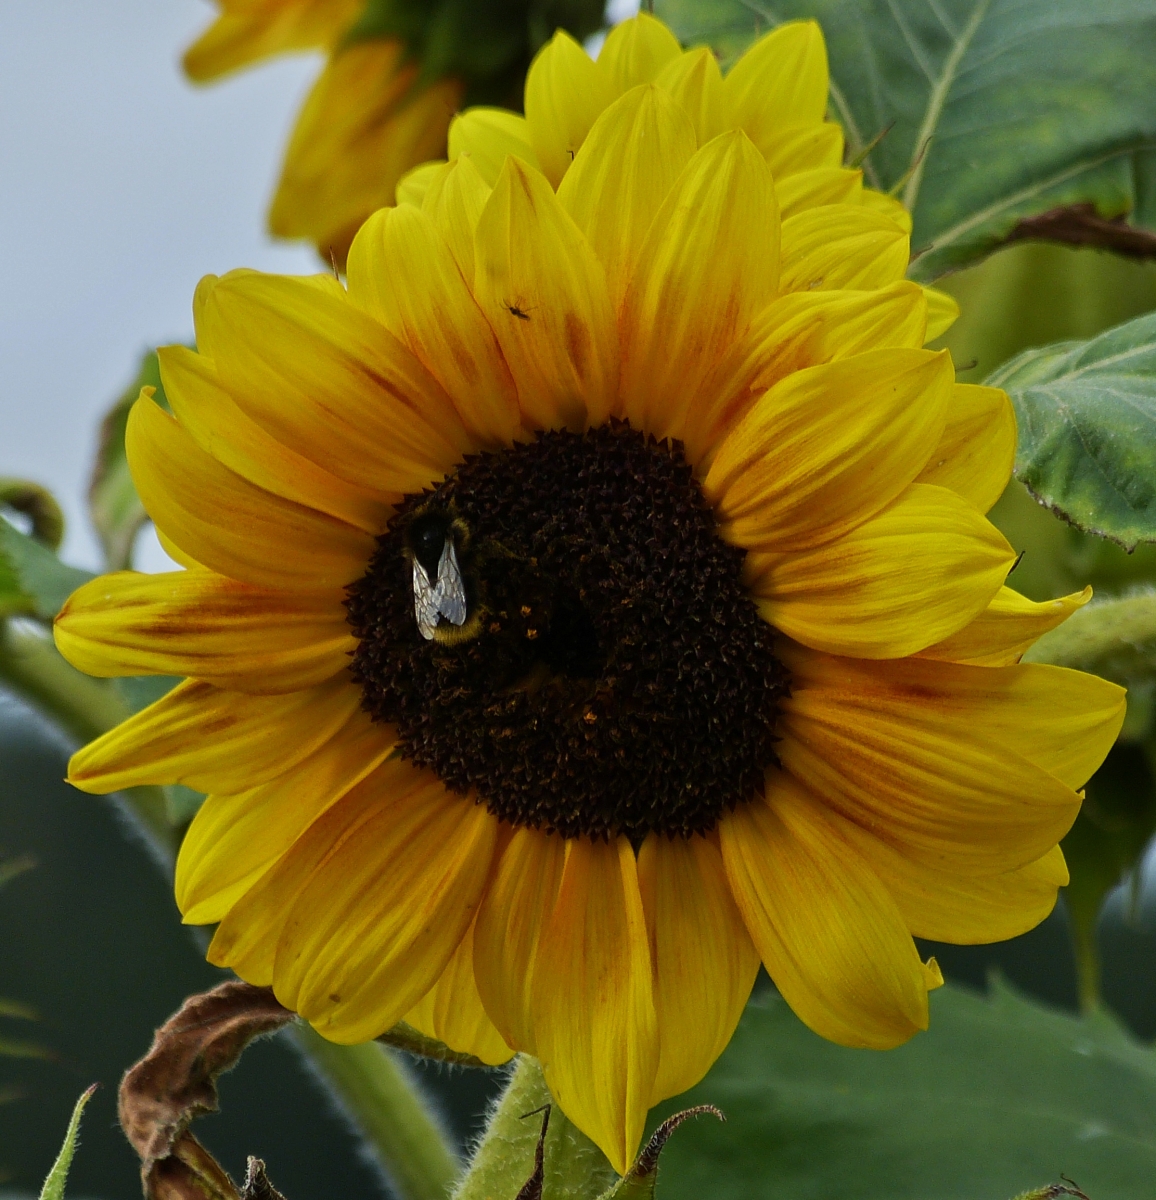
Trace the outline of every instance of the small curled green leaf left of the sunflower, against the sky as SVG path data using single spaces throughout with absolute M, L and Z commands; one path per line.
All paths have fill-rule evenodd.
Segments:
M 149 350 L 140 360 L 137 378 L 101 421 L 100 446 L 89 481 L 89 514 L 104 550 L 104 563 L 110 571 L 122 571 L 132 565 L 133 542 L 140 527 L 148 521 L 125 455 L 128 412 L 137 402 L 142 388 L 155 388 L 155 400 L 167 407 L 161 365 L 154 350 Z

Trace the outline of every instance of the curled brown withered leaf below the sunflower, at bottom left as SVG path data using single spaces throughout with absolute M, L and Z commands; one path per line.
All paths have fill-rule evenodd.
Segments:
M 120 1084 L 120 1124 L 140 1156 L 149 1200 L 275 1200 L 259 1160 L 250 1160 L 242 1195 L 188 1126 L 217 1110 L 217 1075 L 245 1046 L 293 1019 L 268 988 L 230 982 L 191 996 L 156 1031 L 149 1052 Z

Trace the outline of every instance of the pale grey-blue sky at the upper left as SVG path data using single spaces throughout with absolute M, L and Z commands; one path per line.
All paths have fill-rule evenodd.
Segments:
M 264 233 L 300 56 L 208 88 L 180 73 L 205 0 L 0 2 L 0 474 L 48 485 L 64 554 L 98 566 L 84 490 L 143 350 L 192 335 L 202 275 L 319 270 Z M 163 569 L 144 539 L 140 566 Z

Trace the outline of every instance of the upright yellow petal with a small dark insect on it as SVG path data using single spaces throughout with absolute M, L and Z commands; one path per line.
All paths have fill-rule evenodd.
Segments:
M 474 294 L 526 418 L 583 430 L 610 414 L 618 347 L 606 272 L 546 180 L 507 160 L 478 221 Z

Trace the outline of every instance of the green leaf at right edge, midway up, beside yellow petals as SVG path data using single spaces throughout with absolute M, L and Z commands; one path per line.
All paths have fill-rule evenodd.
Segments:
M 1156 541 L 1156 313 L 1028 350 L 988 380 L 1016 404 L 1016 475 L 1065 521 Z

